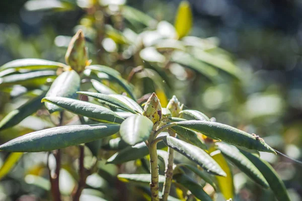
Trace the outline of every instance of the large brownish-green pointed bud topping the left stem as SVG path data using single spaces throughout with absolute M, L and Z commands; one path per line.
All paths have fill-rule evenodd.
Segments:
M 66 63 L 75 71 L 82 72 L 87 65 L 88 49 L 85 46 L 85 38 L 82 30 L 79 30 L 72 38 L 65 54 Z

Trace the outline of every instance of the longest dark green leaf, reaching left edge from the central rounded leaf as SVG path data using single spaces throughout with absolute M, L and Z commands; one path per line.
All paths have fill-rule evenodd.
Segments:
M 40 152 L 61 149 L 92 142 L 113 135 L 120 125 L 61 126 L 29 133 L 3 145 L 0 150 L 8 152 Z

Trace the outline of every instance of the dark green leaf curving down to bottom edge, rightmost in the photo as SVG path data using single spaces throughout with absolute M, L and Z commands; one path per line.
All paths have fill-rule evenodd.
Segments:
M 279 201 L 289 201 L 289 195 L 286 191 L 286 187 L 278 176 L 278 173 L 274 168 L 266 161 L 261 160 L 257 156 L 253 155 L 244 150 L 240 150 L 254 165 L 260 170 L 267 182 L 269 183 L 270 188 L 273 190 L 276 198 Z

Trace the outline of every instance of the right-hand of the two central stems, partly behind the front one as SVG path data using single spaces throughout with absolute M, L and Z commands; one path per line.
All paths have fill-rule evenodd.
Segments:
M 172 137 L 176 136 L 176 134 L 173 131 L 169 130 L 168 133 Z M 165 171 L 166 181 L 164 183 L 164 188 L 163 188 L 163 201 L 168 200 L 168 196 L 170 194 L 170 189 L 171 189 L 172 177 L 173 177 L 174 150 L 168 147 L 168 152 L 169 152 L 169 158 L 168 158 L 168 166 Z

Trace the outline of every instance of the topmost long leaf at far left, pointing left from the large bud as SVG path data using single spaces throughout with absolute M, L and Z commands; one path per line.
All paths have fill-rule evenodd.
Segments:
M 3 66 L 0 67 L 0 71 L 14 68 L 16 70 L 20 69 L 43 69 L 43 68 L 58 68 L 58 67 L 65 67 L 66 65 L 59 62 L 48 61 L 44 59 L 17 59 L 14 61 L 10 61 Z

